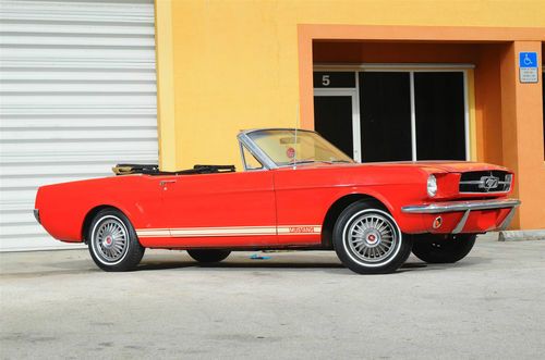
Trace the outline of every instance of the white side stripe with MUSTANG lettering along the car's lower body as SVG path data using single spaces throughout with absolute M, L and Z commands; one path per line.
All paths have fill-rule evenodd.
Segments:
M 320 225 L 140 228 L 138 237 L 211 237 L 320 234 Z

